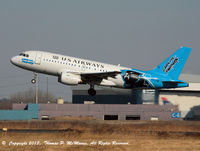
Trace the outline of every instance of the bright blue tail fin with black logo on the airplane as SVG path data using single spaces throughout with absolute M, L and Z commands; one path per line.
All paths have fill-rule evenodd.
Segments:
M 166 74 L 170 78 L 178 80 L 191 50 L 192 48 L 181 47 L 152 71 L 159 74 Z

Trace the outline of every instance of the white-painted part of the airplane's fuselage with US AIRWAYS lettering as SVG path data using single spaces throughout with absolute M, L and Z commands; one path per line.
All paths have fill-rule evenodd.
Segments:
M 62 73 L 106 73 L 130 69 L 120 65 L 111 65 L 101 62 L 64 56 L 44 51 L 26 51 L 11 59 L 11 62 L 23 69 L 48 75 L 61 76 Z M 90 83 L 88 83 L 90 84 Z M 103 79 L 99 85 L 124 87 L 124 81 L 120 74 Z

